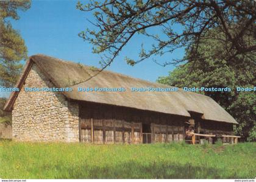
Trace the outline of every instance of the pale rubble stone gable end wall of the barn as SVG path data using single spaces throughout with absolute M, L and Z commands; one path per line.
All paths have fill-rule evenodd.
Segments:
M 12 111 L 15 141 L 79 141 L 79 107 L 62 93 L 24 91 L 25 87 L 54 87 L 34 64 Z

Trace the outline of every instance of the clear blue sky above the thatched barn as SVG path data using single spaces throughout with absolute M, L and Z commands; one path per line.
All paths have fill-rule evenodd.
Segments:
M 94 28 L 87 20 L 95 22 L 94 17 L 91 12 L 77 10 L 76 3 L 77 1 L 60 0 L 32 1 L 29 10 L 18 13 L 20 19 L 11 20 L 13 28 L 20 31 L 29 56 L 45 54 L 84 65 L 100 67 L 100 55 L 93 54 L 91 44 L 78 36 L 82 30 Z M 180 27 L 177 26 L 174 29 L 180 29 Z M 151 31 L 160 33 L 159 28 Z M 136 60 L 141 43 L 149 47 L 152 40 L 141 37 L 141 35 L 135 36 L 107 69 L 151 82 L 155 82 L 159 76 L 168 75 L 168 72 L 174 69 L 172 65 L 166 67 L 157 65 L 152 61 L 152 58 L 135 66 L 127 65 L 124 58 L 127 56 Z M 163 63 L 172 58 L 182 58 L 183 55 L 184 50 L 179 49 L 174 54 L 165 54 L 162 57 L 154 58 Z M 1 95 L 3 93 L 0 93 Z

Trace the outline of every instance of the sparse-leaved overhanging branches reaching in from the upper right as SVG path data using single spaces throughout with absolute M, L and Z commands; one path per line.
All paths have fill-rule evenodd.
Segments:
M 92 23 L 94 29 L 82 31 L 79 36 L 93 44 L 94 53 L 104 54 L 102 69 L 115 60 L 136 34 L 152 38 L 154 44 L 149 50 L 142 47 L 138 60 L 127 58 L 130 65 L 154 55 L 172 53 L 180 47 L 190 49 L 194 59 L 187 61 L 197 61 L 202 39 L 214 39 L 222 44 L 228 50 L 225 59 L 230 62 L 236 56 L 256 51 L 256 2 L 253 0 L 92 0 L 88 4 L 78 2 L 77 9 L 93 12 L 96 19 L 96 23 Z M 175 31 L 176 24 L 183 31 Z M 158 27 L 162 34 L 151 33 L 152 27 Z M 211 29 L 216 29 L 217 36 L 208 33 Z M 222 37 L 218 37 L 219 34 Z M 158 64 L 166 66 L 182 61 L 186 60 L 166 60 Z

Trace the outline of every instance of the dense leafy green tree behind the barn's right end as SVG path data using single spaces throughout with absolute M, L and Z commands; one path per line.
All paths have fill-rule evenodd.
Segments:
M 216 40 L 203 40 L 198 46 L 201 61 L 194 64 L 192 61 L 178 66 L 170 72 L 167 77 L 160 77 L 158 82 L 167 85 L 183 88 L 187 87 L 216 87 L 230 88 L 228 92 L 201 92 L 212 97 L 222 107 L 224 107 L 239 125 L 235 128 L 236 134 L 243 136 L 247 140 L 255 141 L 256 133 L 256 95 L 251 92 L 238 92 L 236 87 L 254 88 L 256 52 L 244 56 L 236 56 L 232 62 L 225 59 L 227 52 L 222 44 Z M 191 50 L 187 49 L 186 57 L 191 57 Z M 207 57 L 206 59 L 204 59 Z M 193 67 L 193 69 L 191 69 Z

